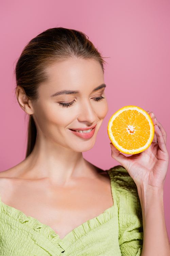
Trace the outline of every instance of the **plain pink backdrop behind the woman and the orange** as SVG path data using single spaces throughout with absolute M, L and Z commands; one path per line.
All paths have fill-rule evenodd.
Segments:
M 102 51 L 109 111 L 96 145 L 84 157 L 102 169 L 111 158 L 107 123 L 126 105 L 153 111 L 169 139 L 169 0 L 6 0 L 0 3 L 0 171 L 24 159 L 27 118 L 14 94 L 16 59 L 38 33 L 62 26 L 81 30 Z M 169 150 L 170 152 L 170 150 Z M 165 218 L 170 236 L 170 172 L 164 186 Z

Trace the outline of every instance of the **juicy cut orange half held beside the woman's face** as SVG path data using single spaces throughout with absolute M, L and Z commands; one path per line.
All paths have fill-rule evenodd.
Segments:
M 150 115 L 137 106 L 125 106 L 113 114 L 107 126 L 113 145 L 126 154 L 137 154 L 152 143 L 154 125 Z

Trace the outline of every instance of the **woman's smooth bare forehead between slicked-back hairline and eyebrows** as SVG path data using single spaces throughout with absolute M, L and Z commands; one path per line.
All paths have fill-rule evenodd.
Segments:
M 70 87 L 76 90 L 87 85 L 96 87 L 104 82 L 102 67 L 94 59 L 66 59 L 50 65 L 46 73 L 46 84 L 55 89 L 57 87 L 58 90 L 67 90 Z

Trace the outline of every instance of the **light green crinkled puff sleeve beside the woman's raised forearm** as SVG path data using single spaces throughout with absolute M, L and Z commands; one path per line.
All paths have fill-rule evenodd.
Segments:
M 120 165 L 113 169 L 119 220 L 119 246 L 122 256 L 140 256 L 143 244 L 141 204 L 137 187 Z

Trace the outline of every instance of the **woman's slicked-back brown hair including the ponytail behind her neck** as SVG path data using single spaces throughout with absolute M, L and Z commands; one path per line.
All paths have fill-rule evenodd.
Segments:
M 50 28 L 33 38 L 23 49 L 16 64 L 16 84 L 30 100 L 37 100 L 37 86 L 47 80 L 46 68 L 50 63 L 67 58 L 96 59 L 104 72 L 104 59 L 94 44 L 82 32 L 67 28 Z M 36 141 L 36 125 L 30 115 L 26 157 Z

